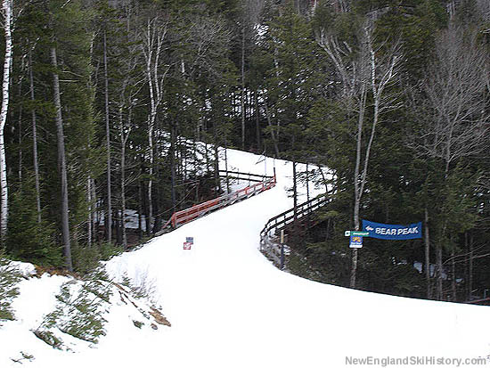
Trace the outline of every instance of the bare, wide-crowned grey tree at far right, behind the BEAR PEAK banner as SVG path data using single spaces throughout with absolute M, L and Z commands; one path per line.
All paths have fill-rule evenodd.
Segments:
M 437 39 L 436 58 L 423 86 L 428 114 L 424 117 L 416 149 L 444 165 L 447 180 L 451 169 L 464 157 L 488 147 L 486 89 L 490 90 L 486 55 L 477 35 L 451 25 Z M 447 233 L 443 225 L 441 239 Z M 443 244 L 437 242 L 437 298 L 442 298 Z

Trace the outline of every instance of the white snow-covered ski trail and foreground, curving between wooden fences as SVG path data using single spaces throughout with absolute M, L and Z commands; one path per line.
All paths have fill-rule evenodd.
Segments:
M 50 368 L 341 367 L 368 356 L 490 355 L 488 307 L 348 290 L 276 269 L 258 252 L 258 234 L 268 218 L 292 206 L 285 191 L 291 165 L 272 159 L 257 163 L 257 156 L 240 151 L 229 151 L 228 159 L 234 168 L 257 174 L 272 175 L 275 164 L 277 186 L 106 265 L 113 277 L 127 274 L 153 287 L 153 298 L 172 327 L 135 329 L 127 308 L 118 306 L 96 348 L 54 350 L 29 331 L 61 283 L 61 276 L 44 276 L 22 282 L 15 305 L 19 321 L 0 328 L 0 367 L 18 366 L 11 358 L 20 351 L 35 358 L 24 359 L 25 365 Z M 184 250 L 189 236 L 194 245 Z

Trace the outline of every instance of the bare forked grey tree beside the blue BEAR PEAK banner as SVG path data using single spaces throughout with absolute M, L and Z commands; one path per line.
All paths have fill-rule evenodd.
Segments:
M 347 110 L 356 113 L 357 133 L 355 135 L 355 169 L 354 169 L 354 228 L 360 229 L 359 211 L 368 178 L 369 160 L 372 142 L 376 135 L 376 127 L 380 115 L 387 110 L 396 108 L 395 95 L 387 93 L 393 84 L 401 61 L 400 47 L 396 43 L 390 47 L 377 44 L 372 34 L 372 19 L 365 20 L 361 30 L 360 46 L 355 50 L 347 42 L 339 42 L 339 38 L 326 29 L 317 32 L 318 44 L 329 55 L 339 78 L 342 91 L 340 97 L 347 102 Z M 357 52 L 357 56 L 354 56 Z M 372 97 L 372 106 L 367 105 L 368 94 Z M 372 108 L 372 122 L 366 124 L 366 109 Z M 363 147 L 363 131 L 369 131 L 369 138 Z M 357 249 L 352 251 L 350 287 L 355 288 L 357 271 Z

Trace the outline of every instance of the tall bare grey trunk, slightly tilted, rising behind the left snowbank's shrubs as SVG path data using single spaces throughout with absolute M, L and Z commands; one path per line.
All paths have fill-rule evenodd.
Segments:
M 68 205 L 68 177 L 65 157 L 65 137 L 63 134 L 63 119 L 61 116 L 60 78 L 58 77 L 58 61 L 56 48 L 51 47 L 51 64 L 53 66 L 53 98 L 56 110 L 56 131 L 58 136 L 58 167 L 61 175 L 61 230 L 63 237 L 63 252 L 65 266 L 73 271 L 71 262 L 71 244 L 69 239 L 69 205 Z

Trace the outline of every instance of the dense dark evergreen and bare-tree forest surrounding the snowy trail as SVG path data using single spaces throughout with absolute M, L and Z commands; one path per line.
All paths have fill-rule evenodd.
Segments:
M 308 163 L 295 180 L 331 199 L 291 272 L 490 289 L 486 0 L 3 0 L 3 20 L 7 257 L 84 273 L 215 196 L 228 147 Z M 348 249 L 363 218 L 424 236 Z

